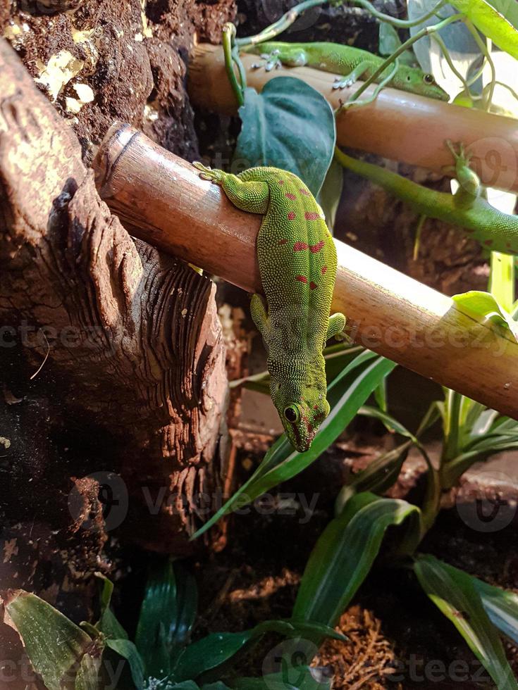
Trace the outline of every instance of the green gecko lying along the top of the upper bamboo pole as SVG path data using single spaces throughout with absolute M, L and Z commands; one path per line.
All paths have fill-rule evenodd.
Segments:
M 343 75 L 338 79 L 335 89 L 352 86 L 358 79 L 368 79 L 384 62 L 384 58 L 373 55 L 366 50 L 343 46 L 339 43 L 281 43 L 270 41 L 255 46 L 247 46 L 243 51 L 254 54 L 266 54 L 265 67 L 271 70 L 280 64 L 290 67 L 313 67 L 323 72 Z M 260 65 L 257 65 L 259 67 Z M 390 65 L 376 79 L 380 83 L 388 77 L 393 65 Z M 417 67 L 399 65 L 393 78 L 386 84 L 393 89 L 400 89 L 420 96 L 448 101 L 448 94 L 440 88 L 431 74 L 426 74 Z

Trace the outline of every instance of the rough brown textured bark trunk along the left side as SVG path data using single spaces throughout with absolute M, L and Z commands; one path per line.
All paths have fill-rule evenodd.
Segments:
M 6 42 L 0 94 L 0 582 L 81 618 L 111 529 L 192 551 L 222 471 L 225 349 L 214 284 L 130 238 Z

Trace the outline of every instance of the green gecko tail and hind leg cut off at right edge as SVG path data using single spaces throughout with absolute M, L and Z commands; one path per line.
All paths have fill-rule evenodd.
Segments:
M 379 184 L 390 194 L 405 201 L 417 213 L 459 225 L 469 237 L 491 251 L 518 254 L 518 216 L 498 211 L 498 208 L 483 199 L 480 196 L 479 177 L 469 168 L 469 154 L 464 152 L 462 145 L 457 153 L 451 142 L 446 144 L 455 158 L 455 177 L 459 182 L 459 189 L 455 194 L 421 187 L 420 184 L 379 165 L 357 161 L 340 149 L 335 149 L 335 158 L 344 168 Z

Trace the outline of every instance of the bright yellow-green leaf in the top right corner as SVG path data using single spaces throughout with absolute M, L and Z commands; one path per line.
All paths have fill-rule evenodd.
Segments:
M 458 11 L 467 15 L 483 35 L 490 38 L 500 49 L 518 59 L 518 32 L 504 15 L 493 7 L 500 6 L 509 13 L 514 22 L 517 21 L 517 10 L 513 8 L 512 0 L 493 0 L 490 5 L 485 0 L 450 0 Z

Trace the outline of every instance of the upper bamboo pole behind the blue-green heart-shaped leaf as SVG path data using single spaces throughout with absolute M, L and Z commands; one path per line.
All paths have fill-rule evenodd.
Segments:
M 338 75 L 307 67 L 266 72 L 251 68 L 257 55 L 242 54 L 241 59 L 248 85 L 257 91 L 280 75 L 298 77 L 328 99 L 333 109 L 340 106 L 340 101 L 347 101 L 361 83 L 340 91 L 333 89 Z M 365 95 L 371 92 L 367 89 Z M 197 46 L 189 68 L 189 94 L 197 106 L 218 113 L 236 113 L 220 46 Z M 340 146 L 378 153 L 436 172 L 444 172 L 443 167 L 452 165 L 445 139 L 463 142 L 473 153 L 471 164 L 483 184 L 518 192 L 518 127 L 512 118 L 383 89 L 374 103 L 350 108 L 339 115 L 336 127 Z

